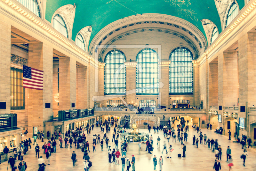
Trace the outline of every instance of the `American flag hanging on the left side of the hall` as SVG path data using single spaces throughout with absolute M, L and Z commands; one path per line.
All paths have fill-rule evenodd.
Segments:
M 44 71 L 23 65 L 23 87 L 43 90 Z

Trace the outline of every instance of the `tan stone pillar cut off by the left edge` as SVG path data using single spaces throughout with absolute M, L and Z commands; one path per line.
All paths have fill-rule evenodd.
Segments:
M 6 109 L 0 109 L 0 114 L 9 114 L 11 111 L 11 25 L 0 21 L 0 102 L 6 102 Z

